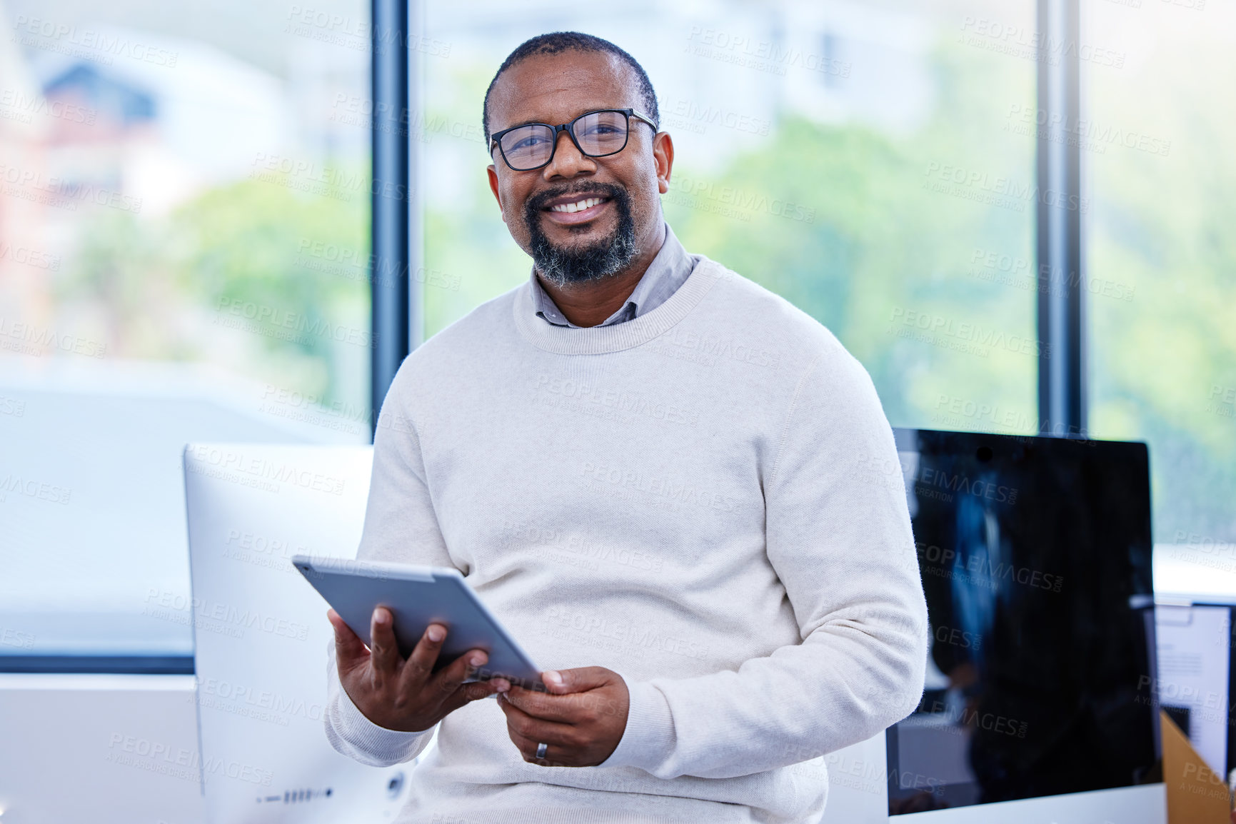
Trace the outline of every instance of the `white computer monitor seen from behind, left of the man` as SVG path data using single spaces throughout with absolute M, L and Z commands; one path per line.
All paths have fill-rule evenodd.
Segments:
M 412 763 L 326 740 L 326 604 L 292 556 L 355 557 L 370 447 L 192 444 L 184 451 L 203 793 L 211 824 L 392 820 Z

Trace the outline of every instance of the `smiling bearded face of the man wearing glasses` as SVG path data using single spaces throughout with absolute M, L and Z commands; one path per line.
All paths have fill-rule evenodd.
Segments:
M 597 109 L 643 111 L 634 73 L 598 52 L 566 51 L 508 69 L 489 98 L 497 132 L 528 122 L 565 124 Z M 648 114 L 648 112 L 645 112 Z M 674 147 L 630 120 L 627 147 L 608 157 L 581 154 L 560 133 L 549 166 L 515 172 L 494 149 L 489 188 L 502 220 L 543 277 L 560 285 L 616 274 L 650 259 L 661 245 L 659 194 L 669 190 Z M 596 200 L 593 205 L 587 201 Z M 566 211 L 574 204 L 576 211 Z M 645 261 L 646 264 L 646 261 Z

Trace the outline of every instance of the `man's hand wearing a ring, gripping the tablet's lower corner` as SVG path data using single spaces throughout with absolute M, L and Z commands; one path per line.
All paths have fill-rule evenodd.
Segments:
M 549 693 L 523 687 L 498 697 L 507 714 L 507 733 L 524 761 L 544 767 L 595 767 L 613 754 L 627 730 L 630 693 L 613 670 L 541 673 Z M 536 745 L 545 744 L 544 759 Z

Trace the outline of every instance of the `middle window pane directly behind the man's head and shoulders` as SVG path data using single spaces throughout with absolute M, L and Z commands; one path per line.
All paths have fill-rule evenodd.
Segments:
M 895 425 L 1035 432 L 1035 4 L 430 4 L 426 334 L 527 279 L 481 100 L 527 37 L 629 51 L 676 159 L 666 217 L 827 325 Z M 1060 204 L 1068 208 L 1068 204 Z

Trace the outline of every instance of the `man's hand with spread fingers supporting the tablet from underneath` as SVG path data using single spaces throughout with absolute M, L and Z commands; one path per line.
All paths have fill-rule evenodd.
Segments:
M 464 683 L 489 660 L 485 650 L 468 650 L 434 675 L 434 662 L 446 640 L 446 628 L 441 624 L 425 628 L 412 655 L 403 658 L 391 610 L 384 607 L 373 610 L 372 649 L 366 649 L 334 609 L 326 618 L 335 626 L 339 681 L 356 708 L 378 726 L 421 733 L 464 704 L 510 688 L 506 678 Z

